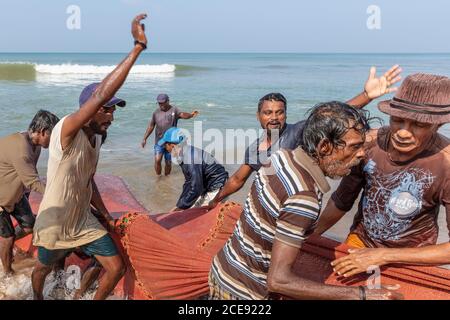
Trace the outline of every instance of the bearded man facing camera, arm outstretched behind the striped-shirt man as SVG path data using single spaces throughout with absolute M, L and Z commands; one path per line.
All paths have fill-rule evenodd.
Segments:
M 362 108 L 373 99 L 394 92 L 397 88 L 392 88 L 392 85 L 400 81 L 400 73 L 401 68 L 395 65 L 382 77 L 377 78 L 376 69 L 372 67 L 364 85 L 364 92 L 347 103 L 356 108 Z M 272 151 L 277 149 L 293 150 L 300 145 L 305 121 L 295 124 L 286 123 L 287 101 L 281 93 L 269 93 L 262 97 L 258 102 L 256 117 L 265 130 L 263 136 L 247 148 L 244 163 L 210 202 L 210 208 L 214 208 L 220 201 L 239 191 L 253 172 L 258 171 L 264 163 L 269 162 Z

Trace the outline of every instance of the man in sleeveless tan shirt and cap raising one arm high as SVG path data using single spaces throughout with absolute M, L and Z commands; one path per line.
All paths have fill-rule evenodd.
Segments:
M 147 38 L 141 20 L 132 22 L 134 47 L 128 56 L 99 85 L 89 85 L 82 96 L 87 100 L 81 108 L 64 117 L 53 130 L 47 172 L 47 189 L 42 199 L 33 233 L 38 247 L 38 261 L 32 274 L 35 299 L 43 299 L 46 276 L 52 266 L 80 248 L 95 257 L 105 269 L 94 299 L 105 299 L 125 272 L 124 262 L 108 231 L 91 213 L 91 200 L 100 203 L 93 176 L 97 168 L 102 135 L 114 120 L 116 105 L 122 100 L 114 97 L 141 52 Z M 98 206 L 97 206 L 98 207 Z M 109 229 L 114 220 L 106 210 Z

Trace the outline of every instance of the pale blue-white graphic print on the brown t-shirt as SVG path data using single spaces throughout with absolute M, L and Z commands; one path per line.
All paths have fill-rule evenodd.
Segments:
M 377 170 L 370 159 L 364 167 L 367 186 L 363 195 L 363 224 L 371 238 L 399 240 L 422 208 L 424 192 L 435 177 L 421 168 L 407 168 L 391 174 Z

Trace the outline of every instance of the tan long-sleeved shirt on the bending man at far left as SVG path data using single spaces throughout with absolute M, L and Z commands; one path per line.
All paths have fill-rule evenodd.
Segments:
M 25 189 L 44 193 L 36 164 L 41 148 L 33 146 L 27 133 L 14 133 L 0 139 L 0 207 L 12 212 Z

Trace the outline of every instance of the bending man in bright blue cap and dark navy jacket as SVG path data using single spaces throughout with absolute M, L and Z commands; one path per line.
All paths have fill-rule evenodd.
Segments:
M 158 145 L 172 154 L 181 166 L 185 182 L 177 206 L 172 211 L 208 205 L 228 179 L 225 168 L 209 153 L 190 146 L 179 128 L 169 128 Z

